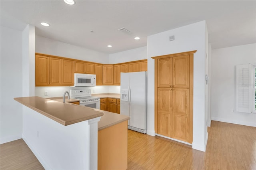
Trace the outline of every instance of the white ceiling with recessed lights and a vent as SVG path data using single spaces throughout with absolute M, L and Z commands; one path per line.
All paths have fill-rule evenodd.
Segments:
M 108 54 L 146 46 L 147 36 L 202 20 L 213 49 L 256 43 L 255 0 L 76 0 L 73 6 L 63 0 L 1 0 L 0 7 L 1 26 L 22 31 L 31 24 L 38 36 Z

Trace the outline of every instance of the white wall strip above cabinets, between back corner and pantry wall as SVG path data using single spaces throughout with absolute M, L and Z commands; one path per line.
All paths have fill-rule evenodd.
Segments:
M 128 61 L 136 61 L 141 59 L 147 59 L 147 46 L 122 51 L 119 53 L 113 53 L 109 55 L 109 63 L 124 63 Z

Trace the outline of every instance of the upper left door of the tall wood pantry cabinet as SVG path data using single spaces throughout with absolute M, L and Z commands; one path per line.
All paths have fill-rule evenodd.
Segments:
M 172 58 L 158 59 L 157 74 L 158 87 L 172 87 Z

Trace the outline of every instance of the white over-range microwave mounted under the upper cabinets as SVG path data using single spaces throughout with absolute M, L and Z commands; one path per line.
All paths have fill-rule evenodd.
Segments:
M 74 87 L 96 86 L 95 74 L 75 73 Z

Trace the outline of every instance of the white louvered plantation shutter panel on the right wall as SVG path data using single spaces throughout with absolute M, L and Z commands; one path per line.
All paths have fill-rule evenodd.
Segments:
M 236 111 L 251 113 L 250 64 L 236 65 Z

